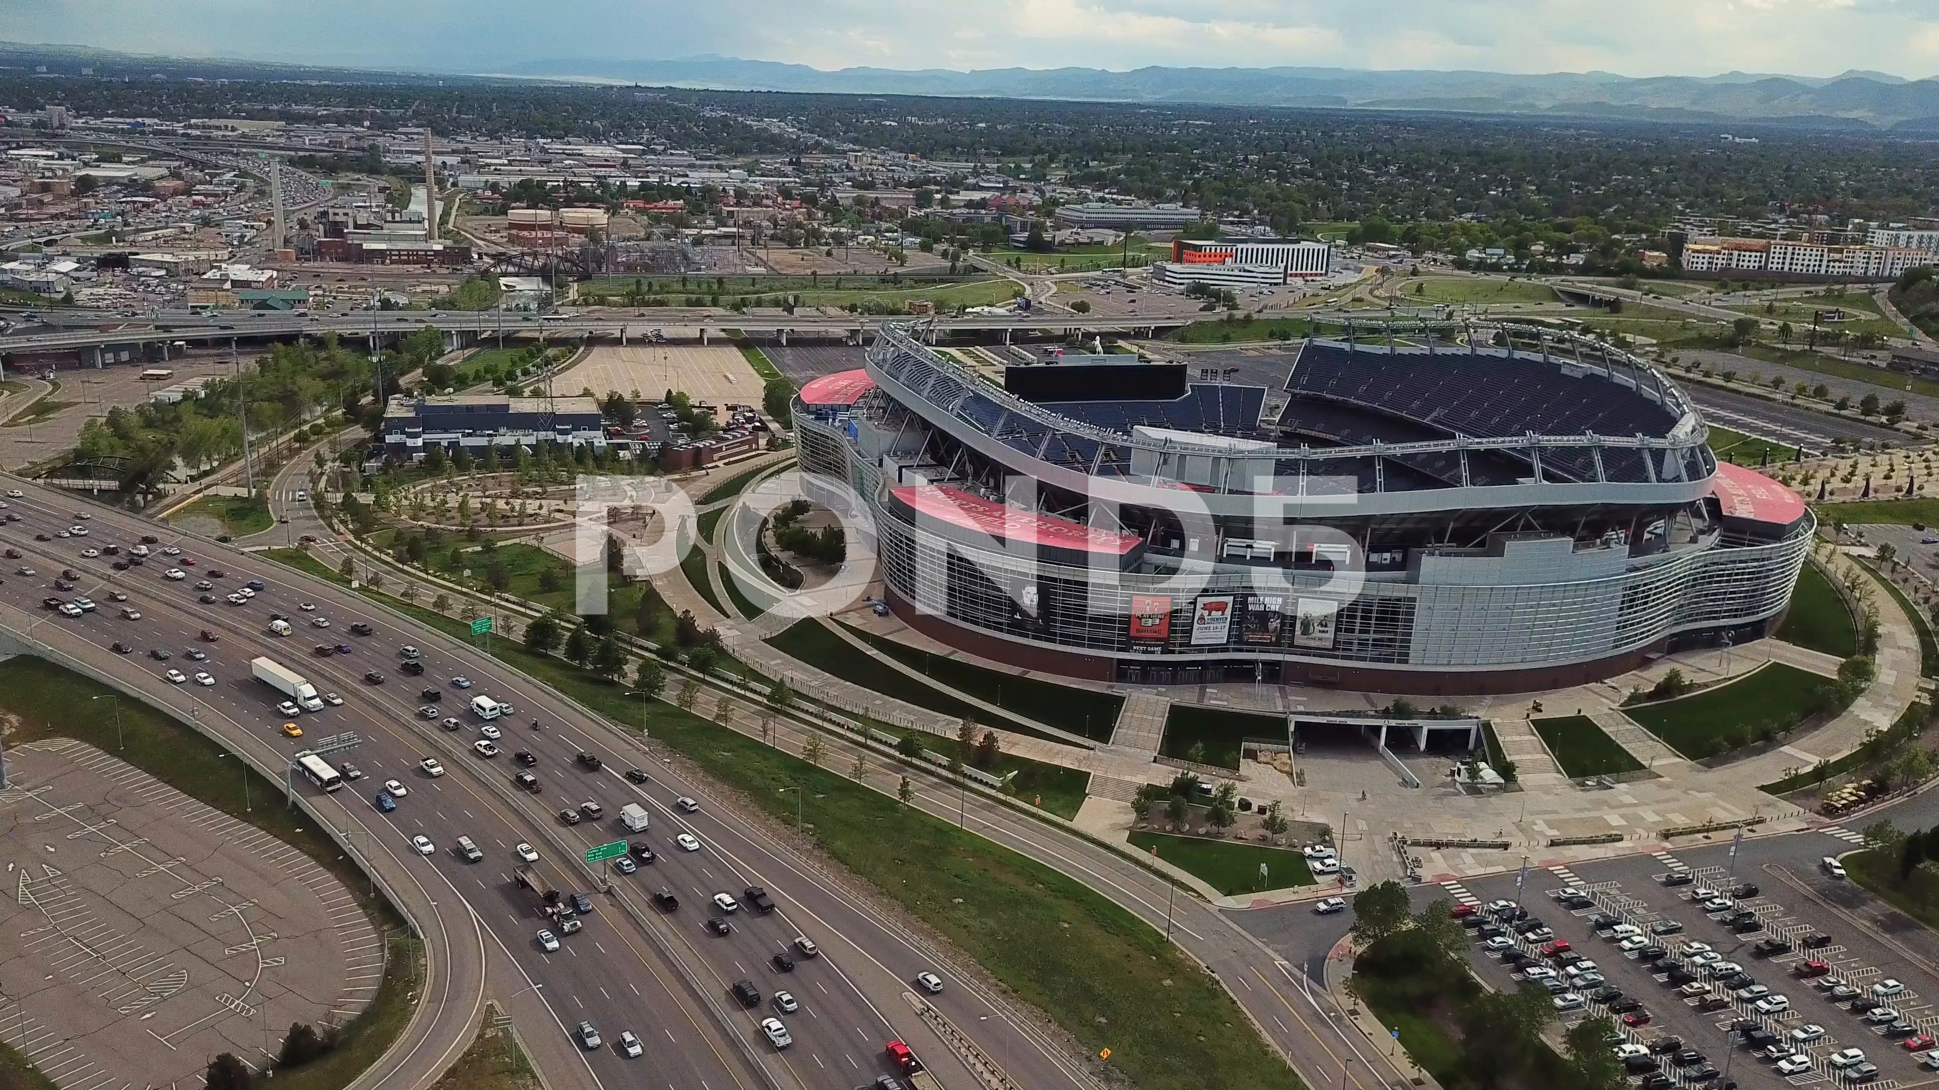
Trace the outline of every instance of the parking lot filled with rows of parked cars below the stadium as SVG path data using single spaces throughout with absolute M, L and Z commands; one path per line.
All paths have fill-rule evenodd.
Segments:
M 1852 848 L 1842 830 L 1813 840 L 1821 844 L 1807 848 L 1827 855 Z M 1571 948 L 1545 954 L 1545 937 L 1534 931 L 1534 937 L 1510 935 L 1512 945 L 1497 941 L 1503 948 L 1495 950 L 1478 941 L 1476 964 L 1495 987 L 1526 979 L 1545 983 L 1542 978 L 1553 974 L 1563 995 L 1580 997 L 1580 1007 L 1573 999 L 1559 1003 L 1569 1007 L 1559 1012 L 1565 1024 L 1631 1012 L 1638 1024 L 1619 1022 L 1623 1043 L 1650 1049 L 1668 1047 L 1666 1038 L 1681 1038 L 1679 1049 L 1644 1051 L 1631 1061 L 1637 1080 L 1648 1076 L 1652 1086 L 1898 1088 L 1933 1080 L 1933 1069 L 1922 1067 L 1920 1057 L 1935 1049 L 1931 1038 L 1939 1036 L 1939 1009 L 1931 999 L 1939 985 L 1925 972 L 1923 950 L 1900 941 L 1910 935 L 1894 937 L 1840 906 L 1863 894 L 1823 873 L 1815 859 L 1801 859 L 1797 850 L 1805 844 L 1784 838 L 1786 855 L 1778 855 L 1778 844 L 1745 844 L 1735 863 L 1730 848 L 1706 846 L 1683 855 L 1658 851 L 1574 869 L 1530 867 L 1520 904 Z M 1753 888 L 1730 896 L 1732 886 Z M 1565 890 L 1580 898 L 1563 904 L 1557 898 Z M 1489 902 L 1516 900 L 1516 875 L 1446 882 L 1445 892 L 1489 915 Z M 1699 892 L 1704 896 L 1693 900 Z M 1722 912 L 1701 904 L 1712 894 L 1722 900 L 1708 908 Z M 1726 925 L 1739 914 L 1737 927 Z M 1600 931 L 1592 927 L 1598 917 L 1605 925 Z M 1640 937 L 1627 943 L 1629 950 L 1617 943 L 1627 935 L 1617 929 L 1625 927 Z M 1650 946 L 1664 948 L 1664 958 L 1658 960 Z M 1536 958 L 1526 966 L 1534 976 L 1505 962 L 1518 956 Z M 1571 974 L 1576 966 L 1565 964 L 1574 956 L 1592 960 L 1592 972 L 1604 979 L 1582 983 L 1582 972 Z M 1733 978 L 1733 970 L 1743 976 Z M 1557 985 L 1549 985 L 1551 991 Z M 1854 1010 L 1867 1003 L 1889 1012 Z M 1751 1042 L 1745 1030 L 1768 1036 Z M 1774 1055 L 1770 1045 L 1778 1045 Z M 1786 1049 L 1796 1057 L 1784 1057 Z M 1844 1049 L 1860 1049 L 1863 1057 L 1854 1059 Z M 1780 1059 L 1788 1059 L 1782 1069 Z

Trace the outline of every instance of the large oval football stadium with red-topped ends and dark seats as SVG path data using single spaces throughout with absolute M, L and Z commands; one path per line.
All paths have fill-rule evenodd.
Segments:
M 971 654 L 1142 685 L 1478 694 L 1776 628 L 1813 516 L 1683 392 L 1536 326 L 1348 330 L 1272 386 L 1063 355 L 971 372 L 913 324 L 795 401 L 884 597 Z

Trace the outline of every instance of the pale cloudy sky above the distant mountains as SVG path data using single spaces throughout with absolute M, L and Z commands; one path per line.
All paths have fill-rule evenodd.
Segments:
M 1939 0 L 0 0 L 0 39 L 417 72 L 814 68 L 1939 76 Z

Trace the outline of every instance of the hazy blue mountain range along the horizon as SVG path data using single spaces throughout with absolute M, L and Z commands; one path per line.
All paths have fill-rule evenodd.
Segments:
M 842 68 L 688 56 L 533 60 L 500 72 L 719 91 L 962 95 L 1229 107 L 1598 114 L 1693 122 L 1792 122 L 1939 130 L 1939 80 L 1883 72 L 1832 78 L 1726 72 L 1627 78 L 1611 72 L 1365 72 L 1351 68 Z

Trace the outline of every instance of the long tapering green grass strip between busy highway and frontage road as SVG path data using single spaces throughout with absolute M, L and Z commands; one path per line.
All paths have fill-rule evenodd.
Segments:
M 463 638 L 450 617 L 361 593 Z M 491 654 L 617 723 L 640 721 L 624 685 L 506 640 Z M 1140 1090 L 1297 1086 L 1225 991 L 1082 882 L 673 704 L 655 700 L 646 714 L 655 739 L 776 820 L 795 820 L 793 793 L 781 787 L 807 787 L 807 820 L 836 863 L 938 929 L 1084 1047 L 1109 1047 L 1109 1065 Z

